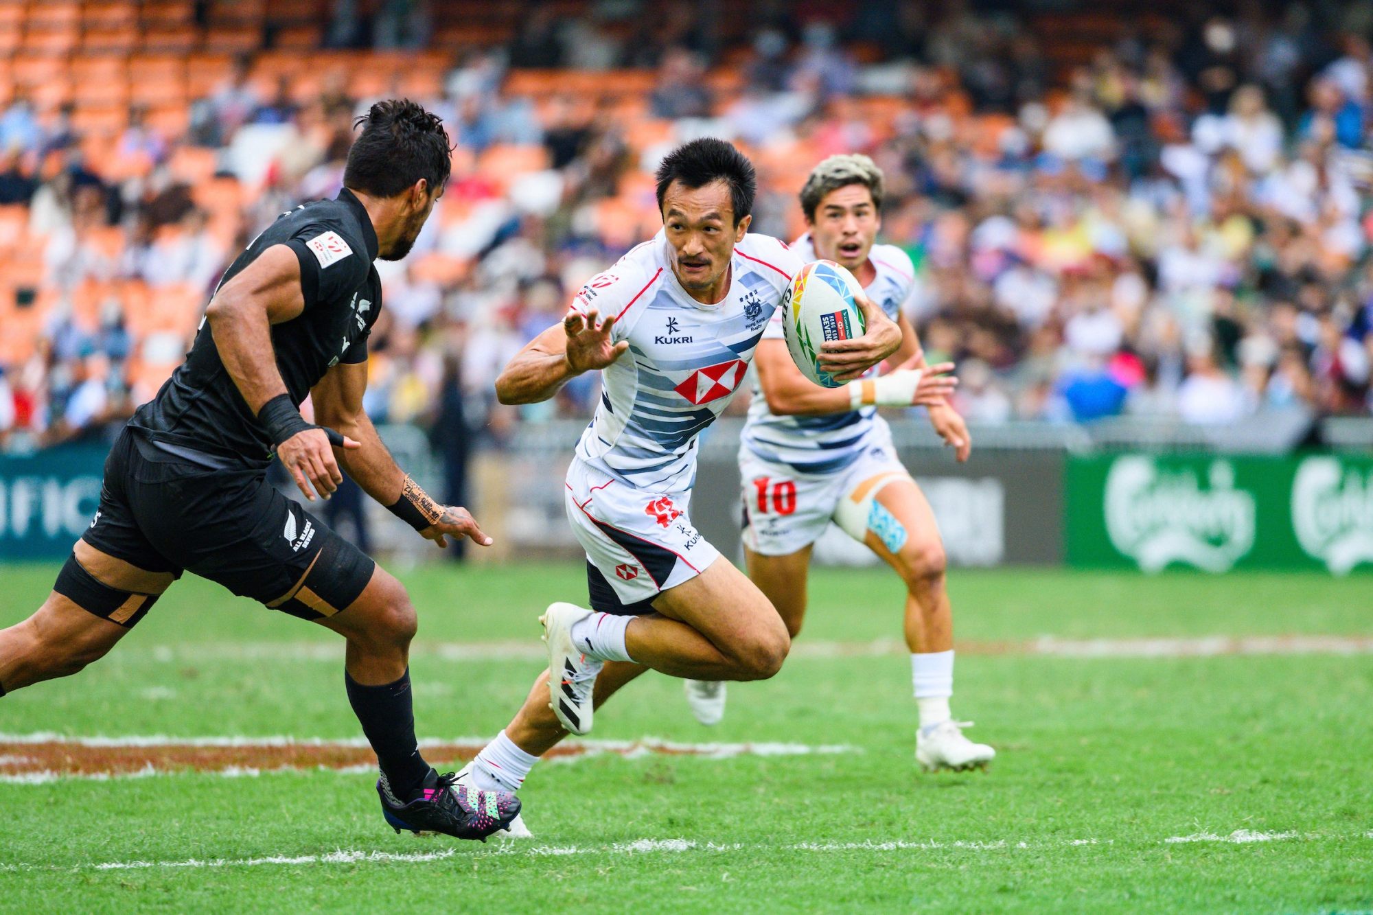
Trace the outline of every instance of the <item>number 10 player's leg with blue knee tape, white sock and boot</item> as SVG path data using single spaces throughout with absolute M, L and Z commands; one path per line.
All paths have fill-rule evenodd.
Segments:
M 945 587 L 945 551 L 934 511 L 913 479 L 894 479 L 877 492 L 864 543 L 906 583 L 905 635 L 920 730 L 916 760 L 927 769 L 986 767 L 995 750 L 972 743 L 953 720 L 953 611 Z M 876 529 L 875 529 L 876 528 Z

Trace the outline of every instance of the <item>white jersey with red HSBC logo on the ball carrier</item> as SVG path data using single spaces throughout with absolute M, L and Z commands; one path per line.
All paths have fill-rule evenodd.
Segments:
M 725 298 L 702 305 L 677 282 L 659 229 L 593 276 L 573 308 L 618 316 L 611 335 L 629 350 L 601 372 L 601 398 L 577 456 L 638 489 L 689 489 L 696 437 L 739 390 L 800 267 L 784 242 L 744 235 Z

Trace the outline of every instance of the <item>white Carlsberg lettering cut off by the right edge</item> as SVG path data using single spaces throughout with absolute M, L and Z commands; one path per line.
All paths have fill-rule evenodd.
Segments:
M 1373 473 L 1339 458 L 1307 458 L 1292 479 L 1292 532 L 1337 576 L 1373 562 Z

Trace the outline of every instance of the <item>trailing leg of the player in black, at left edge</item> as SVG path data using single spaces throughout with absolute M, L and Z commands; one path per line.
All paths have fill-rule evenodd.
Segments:
M 89 578 L 73 581 L 76 588 L 59 584 L 65 591 L 86 592 L 89 596 L 82 600 L 91 609 L 82 609 L 84 605 L 73 598 L 52 591 L 32 617 L 0 629 L 0 695 L 41 680 L 70 676 L 99 661 L 129 631 L 111 620 L 129 622 L 136 613 L 146 610 L 147 598 L 155 599 L 173 581 L 170 573 L 139 569 L 84 540 L 73 548 L 73 561 Z M 65 569 L 62 578 L 69 578 L 73 572 Z M 113 607 L 107 614 L 110 618 L 97 615 L 104 607 Z

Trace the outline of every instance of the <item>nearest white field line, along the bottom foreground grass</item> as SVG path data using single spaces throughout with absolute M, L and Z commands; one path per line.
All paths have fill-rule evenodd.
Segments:
M 1271 842 L 1280 839 L 1319 841 L 1325 837 L 1318 833 L 1299 835 L 1297 833 L 1251 833 L 1249 830 L 1236 830 L 1229 835 L 1214 833 L 1197 833 L 1195 835 L 1166 838 L 1153 844 L 1168 845 L 1177 842 L 1229 842 L 1234 845 L 1248 845 L 1254 842 Z M 1373 833 L 1366 833 L 1365 838 L 1373 838 Z M 1133 839 L 1131 839 L 1133 841 Z M 762 842 L 697 842 L 695 839 L 637 839 L 634 842 L 612 842 L 607 845 L 533 845 L 520 841 L 503 841 L 494 848 L 450 846 L 437 852 L 364 852 L 357 849 L 338 849 L 324 855 L 270 855 L 264 857 L 189 857 L 177 861 L 102 861 L 95 864 L 77 864 L 62 867 L 56 864 L 0 864 L 0 872 L 18 871 L 125 871 L 147 868 L 203 868 L 203 867 L 262 867 L 270 864 L 299 866 L 299 864 L 423 864 L 428 861 L 442 861 L 456 857 L 460 850 L 470 849 L 463 857 L 490 857 L 505 855 L 524 855 L 529 857 L 566 857 L 574 855 L 654 855 L 654 853 L 728 853 L 728 852 L 920 852 L 920 850 L 957 850 L 957 852 L 998 852 L 998 850 L 1045 850 L 1057 848 L 1076 848 L 1086 845 L 1114 845 L 1109 838 L 1076 838 L 1076 839 L 891 839 L 865 842 L 795 842 L 787 845 L 768 845 Z

